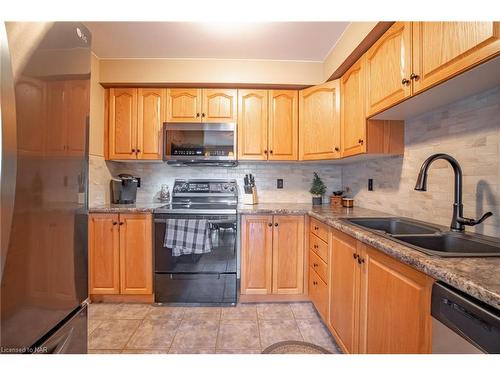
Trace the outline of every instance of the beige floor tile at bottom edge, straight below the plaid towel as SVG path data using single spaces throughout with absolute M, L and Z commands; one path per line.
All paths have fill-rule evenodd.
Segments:
M 172 348 L 215 349 L 219 320 L 183 320 Z

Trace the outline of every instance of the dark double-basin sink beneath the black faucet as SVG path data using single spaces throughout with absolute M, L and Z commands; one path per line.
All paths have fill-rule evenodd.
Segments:
M 402 217 L 349 218 L 347 222 L 429 255 L 500 256 L 500 239 L 443 231 L 441 227 Z

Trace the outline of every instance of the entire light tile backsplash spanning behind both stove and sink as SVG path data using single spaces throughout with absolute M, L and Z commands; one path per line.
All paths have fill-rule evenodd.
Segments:
M 440 107 L 406 121 L 404 156 L 352 164 L 242 162 L 235 168 L 172 167 L 165 163 L 105 162 L 90 159 L 91 206 L 109 203 L 109 180 L 119 173 L 141 177 L 138 202 L 155 202 L 162 184 L 172 189 L 175 178 L 236 179 L 242 190 L 246 173 L 255 175 L 260 202 L 311 202 L 309 188 L 317 171 L 328 194 L 348 186 L 355 205 L 449 225 L 453 203 L 453 174 L 445 161 L 435 162 L 428 191 L 414 190 L 422 162 L 444 152 L 455 157 L 464 172 L 464 213 L 494 216 L 474 228 L 500 237 L 500 87 Z M 284 180 L 277 189 L 276 179 Z M 373 178 L 373 191 L 368 191 Z

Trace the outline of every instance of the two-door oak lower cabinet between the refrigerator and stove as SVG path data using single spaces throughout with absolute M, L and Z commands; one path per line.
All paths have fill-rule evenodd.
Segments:
M 152 267 L 151 215 L 89 216 L 90 295 L 150 295 Z

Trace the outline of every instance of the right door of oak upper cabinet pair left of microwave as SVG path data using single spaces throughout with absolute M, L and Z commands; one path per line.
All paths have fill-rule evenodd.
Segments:
M 137 159 L 161 160 L 166 89 L 138 89 Z

